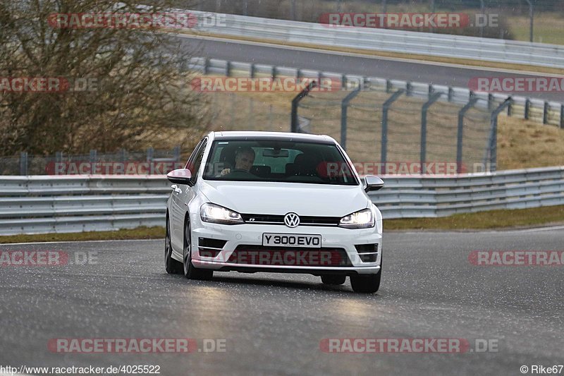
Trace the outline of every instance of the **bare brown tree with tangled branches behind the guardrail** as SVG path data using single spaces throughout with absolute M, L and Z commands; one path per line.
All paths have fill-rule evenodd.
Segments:
M 170 5 L 152 1 L 144 12 Z M 190 53 L 164 30 L 52 22 L 54 14 L 139 12 L 128 0 L 0 0 L 0 154 L 133 149 L 136 142 L 173 136 L 180 143 L 202 132 L 200 98 L 186 90 L 189 73 L 179 69 Z M 5 87 L 13 78 L 53 77 L 71 88 L 91 85 L 49 93 Z

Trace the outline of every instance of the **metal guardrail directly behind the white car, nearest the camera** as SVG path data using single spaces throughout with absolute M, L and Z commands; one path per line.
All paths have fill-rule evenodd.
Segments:
M 564 166 L 383 178 L 370 197 L 384 219 L 564 205 Z M 164 226 L 169 186 L 164 176 L 1 176 L 0 235 Z

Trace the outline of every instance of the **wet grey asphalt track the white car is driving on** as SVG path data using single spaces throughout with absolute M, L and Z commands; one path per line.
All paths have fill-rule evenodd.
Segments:
M 1 245 L 77 265 L 0 267 L 0 365 L 160 365 L 161 375 L 521 375 L 564 363 L 562 266 L 472 265 L 472 250 L 562 250 L 564 229 L 384 234 L 378 293 L 299 274 L 170 276 L 163 241 Z M 95 257 L 95 258 L 92 258 Z M 82 260 L 83 257 L 80 258 Z M 48 351 L 49 339 L 225 340 L 216 353 Z M 476 339 L 478 353 L 325 353 L 322 339 Z M 527 373 L 530 375 L 529 373 Z M 121 373 L 123 375 L 123 373 Z

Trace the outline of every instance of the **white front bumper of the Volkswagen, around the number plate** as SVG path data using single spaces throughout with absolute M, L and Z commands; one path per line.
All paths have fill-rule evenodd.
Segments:
M 196 224 L 196 226 L 194 226 Z M 376 224 L 372 229 L 343 229 L 336 226 L 298 226 L 295 229 L 282 225 L 270 224 L 238 224 L 223 225 L 209 224 L 200 222 L 199 217 L 192 217 L 192 264 L 202 269 L 214 269 L 217 271 L 238 271 L 238 272 L 290 272 L 304 274 L 377 274 L 381 265 L 382 236 L 379 233 L 381 222 Z M 278 247 L 262 247 L 262 234 L 309 234 L 321 235 L 321 249 L 319 248 L 278 248 Z M 221 248 L 217 248 L 215 257 L 206 257 L 209 255 L 209 248 L 200 246 L 200 238 L 214 239 L 226 241 Z M 376 260 L 374 262 L 363 262 L 359 255 L 359 251 L 355 245 L 377 244 Z M 246 252 L 249 256 L 251 251 L 245 251 L 247 248 L 260 249 L 264 248 L 264 252 L 271 255 L 283 252 L 298 252 L 301 255 L 322 253 L 327 255 L 333 252 L 333 255 L 341 257 L 340 265 L 335 262 L 320 262 L 321 265 L 311 265 L 308 262 L 299 262 L 299 260 L 279 257 L 281 262 L 232 262 L 233 258 L 240 261 L 240 252 Z M 202 252 L 200 252 L 202 251 Z M 260 252 L 260 251 L 259 251 Z M 321 255 L 323 257 L 323 255 Z M 248 259 L 249 257 L 247 257 Z M 298 257 L 299 259 L 299 257 Z M 346 260 L 345 260 L 346 259 Z M 254 260 L 254 259 L 253 259 Z M 258 259 L 257 259 L 258 260 Z M 309 260 L 309 259 L 308 259 Z M 319 260 L 319 258 L 317 259 Z

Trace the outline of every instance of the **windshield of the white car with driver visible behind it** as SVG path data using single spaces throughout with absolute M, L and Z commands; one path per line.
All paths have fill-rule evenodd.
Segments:
M 334 144 L 281 140 L 217 140 L 204 179 L 358 185 Z

